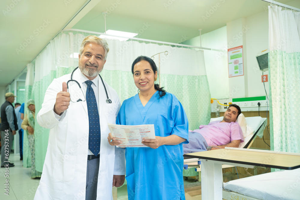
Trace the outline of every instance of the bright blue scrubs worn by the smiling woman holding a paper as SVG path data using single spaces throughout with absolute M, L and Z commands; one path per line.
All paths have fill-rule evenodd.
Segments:
M 143 106 L 139 94 L 125 100 L 117 124 L 154 124 L 155 136 L 175 134 L 188 143 L 188 121 L 184 109 L 171 93 L 161 97 L 158 91 Z M 185 199 L 183 185 L 183 147 L 162 145 L 126 148 L 126 181 L 129 200 Z

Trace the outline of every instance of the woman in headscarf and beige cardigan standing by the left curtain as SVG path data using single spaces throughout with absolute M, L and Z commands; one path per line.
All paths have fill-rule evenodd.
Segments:
M 29 148 L 31 153 L 31 178 L 41 178 L 42 173 L 35 170 L 35 100 L 29 99 L 27 102 L 27 113 L 21 124 L 22 129 L 26 130 Z

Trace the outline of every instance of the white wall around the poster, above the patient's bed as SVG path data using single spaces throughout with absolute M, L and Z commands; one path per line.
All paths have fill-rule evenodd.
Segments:
M 211 97 L 217 99 L 265 96 L 256 55 L 268 48 L 268 11 L 228 22 L 225 27 L 203 34 L 202 46 L 219 49 L 204 51 Z M 183 42 L 200 46 L 199 36 Z M 244 76 L 228 78 L 227 49 L 243 45 Z M 268 72 L 264 72 L 268 74 Z M 234 94 L 234 95 L 232 95 Z

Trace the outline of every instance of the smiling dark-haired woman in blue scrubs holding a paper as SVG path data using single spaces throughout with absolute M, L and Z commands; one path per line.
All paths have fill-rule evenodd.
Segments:
M 150 148 L 126 148 L 128 199 L 183 200 L 182 144 L 188 143 L 187 116 L 175 95 L 155 84 L 157 67 L 151 58 L 139 56 L 131 71 L 140 93 L 123 102 L 116 124 L 154 124 L 155 139 L 143 139 L 142 144 Z M 121 143 L 111 133 L 108 142 Z

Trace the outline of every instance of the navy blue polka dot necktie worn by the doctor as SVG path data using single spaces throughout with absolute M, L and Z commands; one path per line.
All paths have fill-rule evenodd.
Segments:
M 91 152 L 97 156 L 100 152 L 100 120 L 98 113 L 98 106 L 95 97 L 94 90 L 92 88 L 92 81 L 85 81 L 88 86 L 86 89 L 86 104 L 88 106 L 88 124 L 89 124 L 89 134 L 88 134 L 88 148 Z

